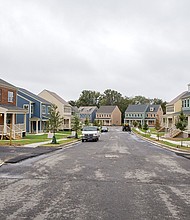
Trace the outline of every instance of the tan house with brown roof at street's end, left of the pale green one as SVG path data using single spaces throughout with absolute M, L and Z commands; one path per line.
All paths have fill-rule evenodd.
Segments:
M 121 125 L 121 111 L 118 106 L 101 106 L 96 112 L 96 121 L 101 125 Z

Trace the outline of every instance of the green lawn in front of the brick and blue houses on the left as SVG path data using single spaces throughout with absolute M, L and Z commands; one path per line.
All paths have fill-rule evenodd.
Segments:
M 62 132 L 57 132 L 55 134 L 57 141 L 62 138 L 66 138 L 71 134 L 70 131 L 62 131 Z M 69 140 L 69 139 L 68 139 Z M 44 141 L 51 141 L 50 138 L 48 138 L 48 134 L 27 134 L 25 137 L 19 140 L 12 140 L 11 145 L 16 145 L 16 146 L 21 146 L 25 144 L 32 144 L 32 143 L 38 143 L 38 142 L 44 142 Z M 10 145 L 10 140 L 0 140 L 0 145 L 1 146 L 7 146 Z

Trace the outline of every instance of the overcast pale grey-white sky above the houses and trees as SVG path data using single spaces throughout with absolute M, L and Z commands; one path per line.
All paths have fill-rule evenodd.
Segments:
M 189 0 L 0 0 L 0 78 L 170 101 L 190 83 Z

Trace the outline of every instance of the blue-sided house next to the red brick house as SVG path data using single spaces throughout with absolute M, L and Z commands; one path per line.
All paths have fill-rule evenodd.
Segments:
M 26 89 L 18 88 L 17 106 L 27 110 L 26 132 L 41 133 L 46 131 L 50 102 Z M 23 123 L 23 116 L 17 115 L 17 121 Z

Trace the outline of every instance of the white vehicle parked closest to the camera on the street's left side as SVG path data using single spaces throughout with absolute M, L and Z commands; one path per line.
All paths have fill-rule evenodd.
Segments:
M 100 138 L 100 131 L 97 126 L 85 126 L 82 128 L 82 142 L 98 141 L 99 138 Z

